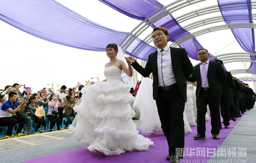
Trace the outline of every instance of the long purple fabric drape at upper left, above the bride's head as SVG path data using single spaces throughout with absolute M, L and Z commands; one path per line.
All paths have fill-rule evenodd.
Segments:
M 106 45 L 119 44 L 128 34 L 106 28 L 53 0 L 2 0 L 0 19 L 38 38 L 84 50 L 105 51 Z M 156 48 L 146 43 L 141 46 L 142 42 L 137 38 L 127 54 L 145 60 Z

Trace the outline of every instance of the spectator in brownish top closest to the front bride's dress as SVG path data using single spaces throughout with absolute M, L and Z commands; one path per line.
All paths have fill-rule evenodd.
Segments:
M 76 113 L 74 112 L 73 107 L 76 105 L 78 100 L 75 102 L 74 97 L 72 95 L 68 95 L 66 98 L 67 98 L 67 102 L 65 104 L 65 109 L 64 109 L 65 113 L 63 113 L 63 116 L 68 119 L 65 124 L 65 128 L 68 128 L 70 121 L 72 122 L 76 116 Z

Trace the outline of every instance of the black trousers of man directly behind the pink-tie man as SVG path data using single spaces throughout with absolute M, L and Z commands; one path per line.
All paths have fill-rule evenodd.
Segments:
M 223 96 L 223 95 L 221 96 L 220 108 L 221 108 L 221 116 L 223 118 L 224 125 L 229 125 L 229 120 L 230 120 L 229 96 Z

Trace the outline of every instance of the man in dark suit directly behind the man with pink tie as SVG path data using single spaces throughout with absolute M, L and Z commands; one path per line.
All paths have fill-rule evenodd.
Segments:
M 223 62 L 221 60 L 216 60 L 215 62 L 219 62 L 221 64 L 221 66 L 223 67 Z M 220 108 L 221 108 L 221 116 L 222 116 L 223 122 L 224 122 L 224 127 L 229 128 L 229 120 L 230 120 L 229 88 L 233 87 L 233 79 L 232 79 L 232 75 L 230 72 L 225 71 L 225 73 L 227 75 L 227 80 L 224 80 L 221 83 L 222 96 L 221 96 Z M 220 125 L 221 125 L 221 122 L 220 122 Z

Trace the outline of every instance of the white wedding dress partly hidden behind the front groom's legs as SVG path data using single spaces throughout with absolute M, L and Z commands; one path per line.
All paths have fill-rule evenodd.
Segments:
M 156 101 L 153 99 L 153 80 L 144 77 L 141 81 L 140 88 L 135 98 L 133 108 L 140 111 L 140 120 L 142 121 L 140 130 L 143 134 L 149 135 L 153 130 L 156 134 L 163 134 L 161 122 L 157 111 Z M 183 112 L 185 133 L 192 132 L 188 124 L 185 112 Z

